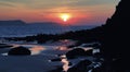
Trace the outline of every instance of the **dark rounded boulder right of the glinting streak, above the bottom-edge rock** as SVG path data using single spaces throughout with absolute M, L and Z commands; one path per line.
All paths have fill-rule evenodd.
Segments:
M 79 56 L 86 56 L 86 51 L 81 48 L 73 49 L 73 50 L 70 50 L 66 53 L 66 57 L 68 59 L 73 59 L 73 58 L 76 58 L 76 57 L 79 57 Z

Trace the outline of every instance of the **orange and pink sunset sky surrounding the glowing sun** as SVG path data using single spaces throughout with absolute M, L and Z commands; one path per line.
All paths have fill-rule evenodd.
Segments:
M 0 0 L 0 21 L 58 22 L 68 13 L 70 24 L 102 24 L 115 10 L 118 0 Z

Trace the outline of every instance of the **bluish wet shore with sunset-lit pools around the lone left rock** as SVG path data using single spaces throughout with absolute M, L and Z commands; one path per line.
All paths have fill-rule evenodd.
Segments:
M 87 58 L 77 58 L 68 60 L 65 56 L 60 57 L 60 55 L 65 55 L 68 50 L 65 46 L 49 46 L 49 45 L 38 45 L 38 44 L 12 44 L 14 47 L 23 46 L 31 51 L 31 56 L 8 56 L 6 52 L 11 48 L 0 49 L 0 72 L 49 72 L 55 70 L 58 67 L 63 68 L 63 71 L 67 70 L 73 65 L 77 64 L 80 60 Z M 88 50 L 88 49 L 84 49 Z M 50 61 L 52 59 L 61 58 L 61 61 Z M 92 58 L 89 58 L 91 59 Z M 16 63 L 16 64 L 15 64 Z M 14 65 L 15 64 L 15 65 Z M 2 67 L 2 68 L 1 68 Z M 8 70 L 6 70 L 8 69 Z

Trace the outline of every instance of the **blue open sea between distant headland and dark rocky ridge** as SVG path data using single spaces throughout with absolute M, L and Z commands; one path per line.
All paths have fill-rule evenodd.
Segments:
M 62 34 L 69 31 L 90 29 L 94 25 L 78 26 L 46 26 L 42 24 L 31 25 L 0 25 L 0 37 L 25 37 L 37 34 Z

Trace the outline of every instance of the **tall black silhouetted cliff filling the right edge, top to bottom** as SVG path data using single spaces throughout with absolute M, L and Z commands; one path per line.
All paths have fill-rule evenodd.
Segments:
M 103 28 L 102 52 L 106 60 L 105 72 L 129 72 L 130 71 L 130 1 L 121 0 L 116 11 L 106 21 Z M 107 70 L 107 71 L 106 71 Z

